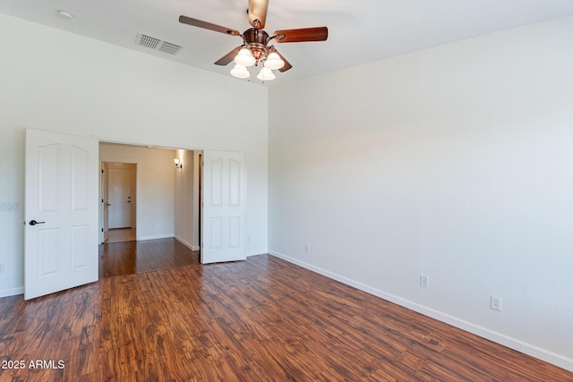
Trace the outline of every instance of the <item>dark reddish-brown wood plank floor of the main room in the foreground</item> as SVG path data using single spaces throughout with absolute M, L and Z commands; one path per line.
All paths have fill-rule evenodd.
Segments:
M 269 255 L 0 299 L 1 381 L 573 381 Z

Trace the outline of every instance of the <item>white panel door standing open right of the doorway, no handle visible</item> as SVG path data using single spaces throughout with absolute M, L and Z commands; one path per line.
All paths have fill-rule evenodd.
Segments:
M 244 153 L 203 151 L 201 263 L 246 259 Z

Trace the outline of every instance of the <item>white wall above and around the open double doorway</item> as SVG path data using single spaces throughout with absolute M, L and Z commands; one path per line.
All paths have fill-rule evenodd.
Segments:
M 0 14 L 0 296 L 23 285 L 27 127 L 175 149 L 244 151 L 247 243 L 267 251 L 267 89 Z M 240 118 L 260 105 L 258 118 Z

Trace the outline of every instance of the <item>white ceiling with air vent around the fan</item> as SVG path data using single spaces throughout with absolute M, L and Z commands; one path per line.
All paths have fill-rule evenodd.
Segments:
M 184 25 L 178 18 L 184 14 L 243 31 L 251 28 L 247 6 L 248 0 L 3 0 L 0 13 L 230 76 L 232 64 L 213 63 L 242 39 Z M 58 15 L 58 10 L 72 13 L 73 19 Z M 277 80 L 267 84 L 569 14 L 572 0 L 269 0 L 269 33 L 328 26 L 329 39 L 276 44 L 293 69 L 277 72 Z M 140 47 L 135 44 L 138 33 L 183 49 L 167 55 Z

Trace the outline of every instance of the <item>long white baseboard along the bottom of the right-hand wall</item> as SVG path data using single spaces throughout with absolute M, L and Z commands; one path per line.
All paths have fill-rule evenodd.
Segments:
M 565 357 L 560 355 L 556 352 L 551 352 L 549 350 L 543 349 L 539 346 L 534 344 L 528 344 L 524 341 L 521 341 L 517 338 L 510 337 L 509 335 L 504 335 L 502 333 L 495 332 L 491 329 L 486 327 L 481 327 L 479 325 L 475 325 L 472 322 L 466 321 L 465 319 L 457 318 L 451 316 L 449 314 L 440 312 L 439 310 L 434 310 L 432 308 L 423 306 L 418 304 L 414 301 L 409 301 L 398 297 L 391 293 L 386 293 L 381 291 L 380 289 L 373 288 L 372 286 L 362 284 L 345 276 L 340 276 L 338 274 L 332 273 L 326 269 L 322 269 L 321 267 L 315 267 L 311 264 L 305 263 L 299 259 L 294 259 L 289 256 L 286 256 L 282 253 L 279 253 L 274 250 L 269 250 L 269 253 L 273 256 L 278 257 L 279 259 L 284 259 L 290 263 L 296 264 L 297 266 L 304 267 L 306 269 L 312 270 L 313 272 L 319 273 L 322 276 L 327 276 L 334 280 L 339 281 L 340 283 L 347 284 L 350 286 L 355 287 L 363 292 L 370 293 L 374 296 L 380 297 L 381 299 L 394 302 L 400 306 L 403 306 L 410 310 L 415 310 L 418 313 L 422 313 L 425 316 L 436 318 L 442 322 L 445 322 L 453 327 L 458 327 L 460 329 L 466 330 L 466 332 L 473 333 L 475 335 L 479 335 L 485 339 L 488 339 L 494 343 L 502 344 L 504 346 L 509 347 L 510 349 L 517 350 L 517 352 L 523 352 L 532 357 L 538 358 L 542 361 L 546 361 L 552 363 L 553 365 L 559 366 L 560 368 L 567 369 L 569 371 L 573 371 L 573 359 L 569 357 Z

